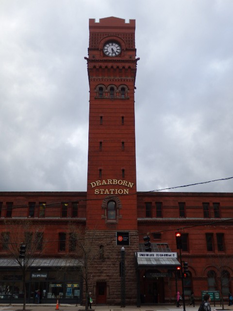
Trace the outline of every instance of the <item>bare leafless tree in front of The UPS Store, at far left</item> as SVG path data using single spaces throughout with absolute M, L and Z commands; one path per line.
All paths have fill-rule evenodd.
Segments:
M 36 259 L 35 255 L 38 256 L 43 250 L 43 231 L 42 226 L 35 225 L 30 219 L 5 220 L 4 227 L 1 228 L 2 248 L 8 256 L 15 259 L 22 271 L 23 310 L 26 306 L 26 272 Z M 20 246 L 25 249 L 25 253 L 21 251 L 21 255 Z

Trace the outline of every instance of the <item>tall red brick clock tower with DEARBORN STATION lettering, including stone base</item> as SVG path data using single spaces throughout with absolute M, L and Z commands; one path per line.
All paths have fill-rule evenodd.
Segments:
M 133 271 L 128 270 L 132 276 L 127 280 L 136 283 L 135 20 L 90 19 L 89 31 L 85 57 L 90 86 L 86 228 L 90 234 L 95 231 L 95 246 L 104 249 L 104 261 L 95 263 L 100 271 L 93 269 L 89 286 L 97 303 L 117 303 L 121 246 L 116 243 L 116 232 L 129 233 L 126 259 Z M 129 286 L 132 295 L 135 285 Z M 100 293 L 104 293 L 102 297 Z

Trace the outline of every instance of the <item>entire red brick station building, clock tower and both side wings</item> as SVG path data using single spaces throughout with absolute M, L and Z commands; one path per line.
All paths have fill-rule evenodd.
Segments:
M 137 191 L 135 20 L 90 19 L 89 31 L 87 191 L 0 192 L 2 301 L 20 301 L 23 294 L 12 245 L 19 248 L 30 237 L 29 252 L 36 236 L 28 302 L 40 289 L 42 301 L 51 303 L 58 297 L 84 303 L 87 291 L 94 304 L 173 303 L 182 292 L 176 231 L 188 262 L 184 294 L 227 297 L 233 290 L 233 193 Z M 147 234 L 151 252 L 145 252 Z

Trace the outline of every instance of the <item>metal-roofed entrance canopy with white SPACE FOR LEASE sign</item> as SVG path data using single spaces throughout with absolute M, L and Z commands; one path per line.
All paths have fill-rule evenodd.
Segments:
M 138 268 L 175 268 L 180 266 L 177 253 L 172 253 L 167 243 L 151 243 L 151 252 L 144 251 L 144 244 L 139 244 L 135 253 Z

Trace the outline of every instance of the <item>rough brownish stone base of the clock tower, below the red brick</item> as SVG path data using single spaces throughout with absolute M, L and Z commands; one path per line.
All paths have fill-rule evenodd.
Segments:
M 128 232 L 130 245 L 124 245 L 125 286 L 123 294 L 126 305 L 136 305 L 135 252 L 138 252 L 138 232 Z M 85 241 L 87 241 L 88 247 L 91 247 L 87 265 L 87 291 L 92 293 L 93 305 L 121 305 L 122 245 L 116 245 L 116 231 L 87 231 Z M 85 288 L 86 286 L 83 284 L 83 304 L 85 301 Z

